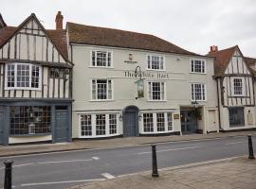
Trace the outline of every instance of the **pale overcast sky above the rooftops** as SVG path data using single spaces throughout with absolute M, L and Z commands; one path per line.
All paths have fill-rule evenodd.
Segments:
M 199 54 L 238 44 L 256 58 L 255 0 L 0 0 L 9 26 L 32 12 L 46 28 L 55 27 L 61 10 L 65 22 L 154 34 Z

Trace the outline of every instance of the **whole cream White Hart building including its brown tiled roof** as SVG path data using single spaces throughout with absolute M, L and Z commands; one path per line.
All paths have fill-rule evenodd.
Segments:
M 66 29 L 73 138 L 218 131 L 212 58 L 146 34 L 73 23 Z

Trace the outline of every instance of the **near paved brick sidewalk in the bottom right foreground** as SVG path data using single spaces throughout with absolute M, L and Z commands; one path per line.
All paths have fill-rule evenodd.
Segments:
M 72 189 L 255 189 L 256 160 L 243 157 L 219 163 L 196 163 L 195 166 L 164 169 L 159 175 L 159 178 L 152 178 L 151 172 L 142 172 Z

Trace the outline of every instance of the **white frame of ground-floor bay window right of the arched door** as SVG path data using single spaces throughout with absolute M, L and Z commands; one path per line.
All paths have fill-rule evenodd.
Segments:
M 153 134 L 153 133 L 168 133 L 174 131 L 174 112 L 173 111 L 142 111 L 141 113 L 141 121 L 140 121 L 140 131 L 142 134 Z M 152 113 L 153 114 L 153 131 L 144 131 L 144 113 Z M 164 130 L 157 131 L 157 113 L 164 113 Z M 172 115 L 172 129 L 168 129 L 168 113 Z

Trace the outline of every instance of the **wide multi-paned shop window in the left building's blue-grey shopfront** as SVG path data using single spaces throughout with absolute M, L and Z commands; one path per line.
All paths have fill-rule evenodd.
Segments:
M 10 107 L 10 135 L 50 133 L 49 106 Z

